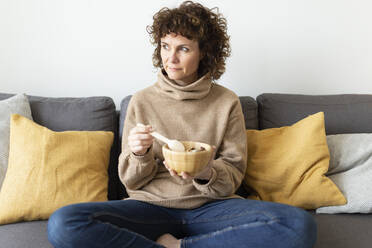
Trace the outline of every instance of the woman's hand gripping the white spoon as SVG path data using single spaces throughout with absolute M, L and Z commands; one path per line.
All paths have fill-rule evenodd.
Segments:
M 129 131 L 128 145 L 134 155 L 142 156 L 147 153 L 151 147 L 154 138 L 150 135 L 153 129 L 151 125 L 137 124 Z

